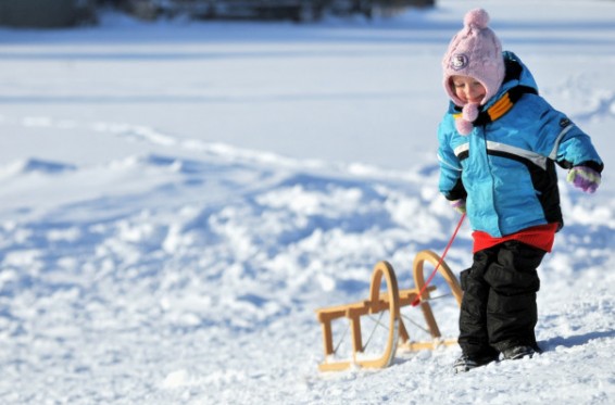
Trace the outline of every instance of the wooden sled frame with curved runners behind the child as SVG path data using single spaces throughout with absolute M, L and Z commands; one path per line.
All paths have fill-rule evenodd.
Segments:
M 440 329 L 434 317 L 429 299 L 430 293 L 436 290 L 436 287 L 429 286 L 425 289 L 421 296 L 419 304 L 432 340 L 423 342 L 411 341 L 407 329 L 403 324 L 400 308 L 402 306 L 412 305 L 425 286 L 424 263 L 426 261 L 434 266 L 438 266 L 440 257 L 431 251 L 426 250 L 418 252 L 413 264 L 415 284 L 413 289 L 399 290 L 393 267 L 388 262 L 382 261 L 376 264 L 372 273 L 368 300 L 316 309 L 316 316 L 323 329 L 323 343 L 325 349 L 325 362 L 318 365 L 322 371 L 343 370 L 351 366 L 385 368 L 392 363 L 398 347 L 416 351 L 434 350 L 440 345 L 456 344 L 456 339 L 442 339 Z M 438 273 L 449 284 L 457 305 L 461 305 L 462 290 L 460 283 L 450 267 L 443 261 L 440 263 Z M 380 292 L 382 278 L 387 283 L 386 292 Z M 361 356 L 357 355 L 363 353 L 364 349 L 361 334 L 361 316 L 377 314 L 387 309 L 389 311 L 389 333 L 382 355 L 375 359 L 360 358 Z M 331 321 L 338 318 L 349 319 L 352 338 L 352 359 L 328 362 L 329 357 L 335 353 Z M 400 340 L 401 342 L 399 342 Z

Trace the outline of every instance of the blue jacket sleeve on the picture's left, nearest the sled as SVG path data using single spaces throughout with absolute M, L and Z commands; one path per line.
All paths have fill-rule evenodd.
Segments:
M 462 182 L 462 166 L 450 144 L 451 132 L 445 125 L 438 128 L 438 161 L 440 163 L 439 190 L 449 201 L 465 199 L 467 192 Z

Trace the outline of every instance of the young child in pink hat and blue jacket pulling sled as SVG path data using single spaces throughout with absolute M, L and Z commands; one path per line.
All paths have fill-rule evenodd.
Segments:
M 439 188 L 454 208 L 467 207 L 474 238 L 455 372 L 540 352 L 537 268 L 563 226 L 555 164 L 589 193 L 603 168 L 590 138 L 538 96 L 488 22 L 485 10 L 468 12 L 442 61 L 452 102 L 438 128 Z

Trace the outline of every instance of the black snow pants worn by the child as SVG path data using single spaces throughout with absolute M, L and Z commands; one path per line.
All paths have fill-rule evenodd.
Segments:
M 459 343 L 464 354 L 497 356 L 536 343 L 538 321 L 537 268 L 547 252 L 507 241 L 476 252 L 470 268 L 461 273 L 464 291 Z

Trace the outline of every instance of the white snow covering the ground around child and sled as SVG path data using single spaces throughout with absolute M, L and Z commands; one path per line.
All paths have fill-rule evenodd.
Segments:
M 543 354 L 461 376 L 456 346 L 317 369 L 314 311 L 366 299 L 381 260 L 411 288 L 415 254 L 456 226 L 437 191 L 440 59 L 480 2 L 308 25 L 106 14 L 0 29 L 0 402 L 615 403 L 615 2 L 482 3 L 606 162 L 593 195 L 560 172 Z M 457 275 L 470 245 L 464 224 Z

